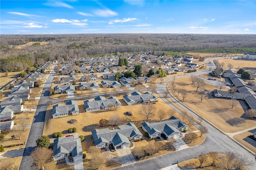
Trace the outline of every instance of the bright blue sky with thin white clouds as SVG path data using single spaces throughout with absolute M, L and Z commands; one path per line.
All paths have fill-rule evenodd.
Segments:
M 0 1 L 0 34 L 88 33 L 256 34 L 256 1 Z

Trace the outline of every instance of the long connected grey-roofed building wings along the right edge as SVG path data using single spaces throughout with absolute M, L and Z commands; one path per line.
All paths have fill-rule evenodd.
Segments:
M 224 97 L 229 99 L 241 99 L 244 100 L 250 109 L 256 109 L 256 93 L 250 86 L 247 86 L 240 78 L 240 75 L 234 73 L 232 70 L 227 70 L 222 74 L 224 77 L 230 79 L 232 84 L 237 88 L 238 92 L 213 90 L 215 97 Z

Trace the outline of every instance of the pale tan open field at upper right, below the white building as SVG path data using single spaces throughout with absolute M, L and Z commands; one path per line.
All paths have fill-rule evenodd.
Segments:
M 234 59 L 218 59 L 220 63 L 224 62 L 226 67 L 228 69 L 228 63 L 234 65 L 233 69 L 239 69 L 242 67 L 256 67 L 256 61 L 246 61 L 246 60 L 234 60 Z

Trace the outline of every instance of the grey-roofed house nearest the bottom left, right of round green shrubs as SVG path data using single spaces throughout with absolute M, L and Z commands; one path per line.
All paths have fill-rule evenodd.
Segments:
M 71 157 L 74 162 L 83 160 L 83 150 L 80 138 L 74 136 L 59 137 L 54 139 L 53 160 L 60 160 Z

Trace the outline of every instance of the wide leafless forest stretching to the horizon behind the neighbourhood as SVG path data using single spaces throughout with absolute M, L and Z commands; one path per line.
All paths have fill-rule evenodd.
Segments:
M 33 45 L 17 48 L 28 42 Z M 40 45 L 38 42 L 48 42 Z M 62 34 L 1 35 L 1 72 L 21 71 L 52 59 L 151 52 L 179 55 L 256 52 L 256 35 L 239 34 Z M 13 65 L 17 67 L 14 68 Z

